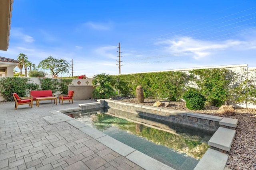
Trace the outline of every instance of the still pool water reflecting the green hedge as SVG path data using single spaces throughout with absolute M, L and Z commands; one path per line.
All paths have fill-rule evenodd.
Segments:
M 66 114 L 176 170 L 193 170 L 208 149 L 207 143 L 212 136 L 210 132 L 170 125 L 170 122 L 161 122 L 165 123 L 165 127 L 166 124 L 171 127 L 161 131 L 159 127 L 156 129 L 130 122 L 109 115 L 109 112 L 108 114 L 92 112 Z

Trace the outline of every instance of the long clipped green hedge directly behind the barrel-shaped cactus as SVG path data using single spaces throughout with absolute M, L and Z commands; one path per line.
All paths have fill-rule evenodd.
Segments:
M 136 96 L 142 86 L 145 98 L 178 100 L 189 76 L 184 72 L 156 72 L 112 76 L 112 86 L 120 96 Z

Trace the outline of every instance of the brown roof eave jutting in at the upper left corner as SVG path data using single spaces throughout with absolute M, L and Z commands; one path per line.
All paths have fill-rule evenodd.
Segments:
M 13 0 L 0 0 L 0 50 L 7 51 L 10 39 Z

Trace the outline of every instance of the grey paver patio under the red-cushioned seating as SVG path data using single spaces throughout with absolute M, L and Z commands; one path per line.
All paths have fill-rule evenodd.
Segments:
M 139 170 L 124 156 L 67 122 L 50 124 L 43 117 L 51 110 L 78 107 L 90 100 L 57 106 L 50 101 L 40 107 L 0 103 L 0 169 Z

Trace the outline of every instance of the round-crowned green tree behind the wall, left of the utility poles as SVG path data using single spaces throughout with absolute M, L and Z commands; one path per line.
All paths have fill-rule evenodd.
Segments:
M 52 56 L 49 56 L 47 59 L 40 61 L 38 67 L 44 70 L 50 70 L 52 75 L 55 77 L 59 73 L 69 73 L 70 64 L 66 62 L 64 59 L 55 59 Z

